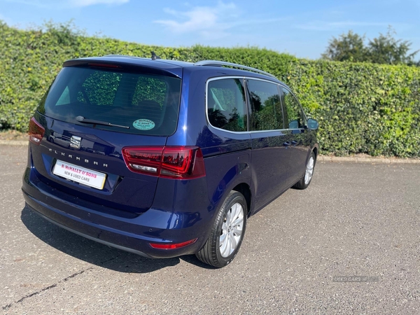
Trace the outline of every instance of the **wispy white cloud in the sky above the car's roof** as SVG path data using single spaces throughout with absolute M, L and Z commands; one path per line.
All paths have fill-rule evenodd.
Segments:
M 206 38 L 221 38 L 234 27 L 232 20 L 238 18 L 235 3 L 218 2 L 217 6 L 195 6 L 187 11 L 164 8 L 165 13 L 174 15 L 173 20 L 156 20 L 175 34 L 198 33 Z

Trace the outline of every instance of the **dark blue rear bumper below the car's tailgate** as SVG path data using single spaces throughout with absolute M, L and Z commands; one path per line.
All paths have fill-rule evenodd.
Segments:
M 211 220 L 200 212 L 192 214 L 151 208 L 128 218 L 102 213 L 83 207 L 76 197 L 74 202 L 60 199 L 53 188 L 36 179 L 31 181 L 34 174 L 30 173 L 28 167 L 22 186 L 29 208 L 55 225 L 99 243 L 147 258 L 172 258 L 197 253 L 208 237 Z M 194 244 L 176 249 L 157 249 L 150 245 L 181 243 L 195 238 Z

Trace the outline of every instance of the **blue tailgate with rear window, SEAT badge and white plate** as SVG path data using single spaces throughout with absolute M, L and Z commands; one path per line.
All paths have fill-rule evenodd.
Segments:
M 122 149 L 165 146 L 176 130 L 180 90 L 181 78 L 162 71 L 64 67 L 35 115 L 46 140 L 31 146 L 38 179 L 94 209 L 146 211 L 158 177 L 131 172 Z

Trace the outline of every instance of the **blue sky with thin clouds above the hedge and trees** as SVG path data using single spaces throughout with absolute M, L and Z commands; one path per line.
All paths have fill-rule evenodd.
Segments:
M 146 45 L 257 46 L 309 59 L 332 36 L 352 30 L 367 41 L 391 25 L 420 50 L 420 0 L 0 0 L 0 20 L 20 29 L 73 20 L 87 35 Z

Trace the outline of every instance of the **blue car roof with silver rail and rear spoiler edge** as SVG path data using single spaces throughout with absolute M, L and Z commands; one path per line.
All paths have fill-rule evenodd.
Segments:
M 84 64 L 94 62 L 104 62 L 105 64 L 128 64 L 130 66 L 140 66 L 147 67 L 150 69 L 159 69 L 160 71 L 172 73 L 174 74 L 174 76 L 178 76 L 179 78 L 182 78 L 183 68 L 188 68 L 190 71 L 200 71 L 200 69 L 204 70 L 214 68 L 215 70 L 220 71 L 222 66 L 232 66 L 234 68 L 223 67 L 223 72 L 226 75 L 254 76 L 257 78 L 269 78 L 269 80 L 275 80 L 279 83 L 281 82 L 275 76 L 265 71 L 260 71 L 259 69 L 251 68 L 248 66 L 242 66 L 240 64 L 221 62 L 218 60 L 204 60 L 201 62 L 193 63 L 171 59 L 151 59 L 127 55 L 106 55 L 103 57 L 85 57 L 78 59 L 70 59 L 64 62 L 63 66 L 82 66 Z

